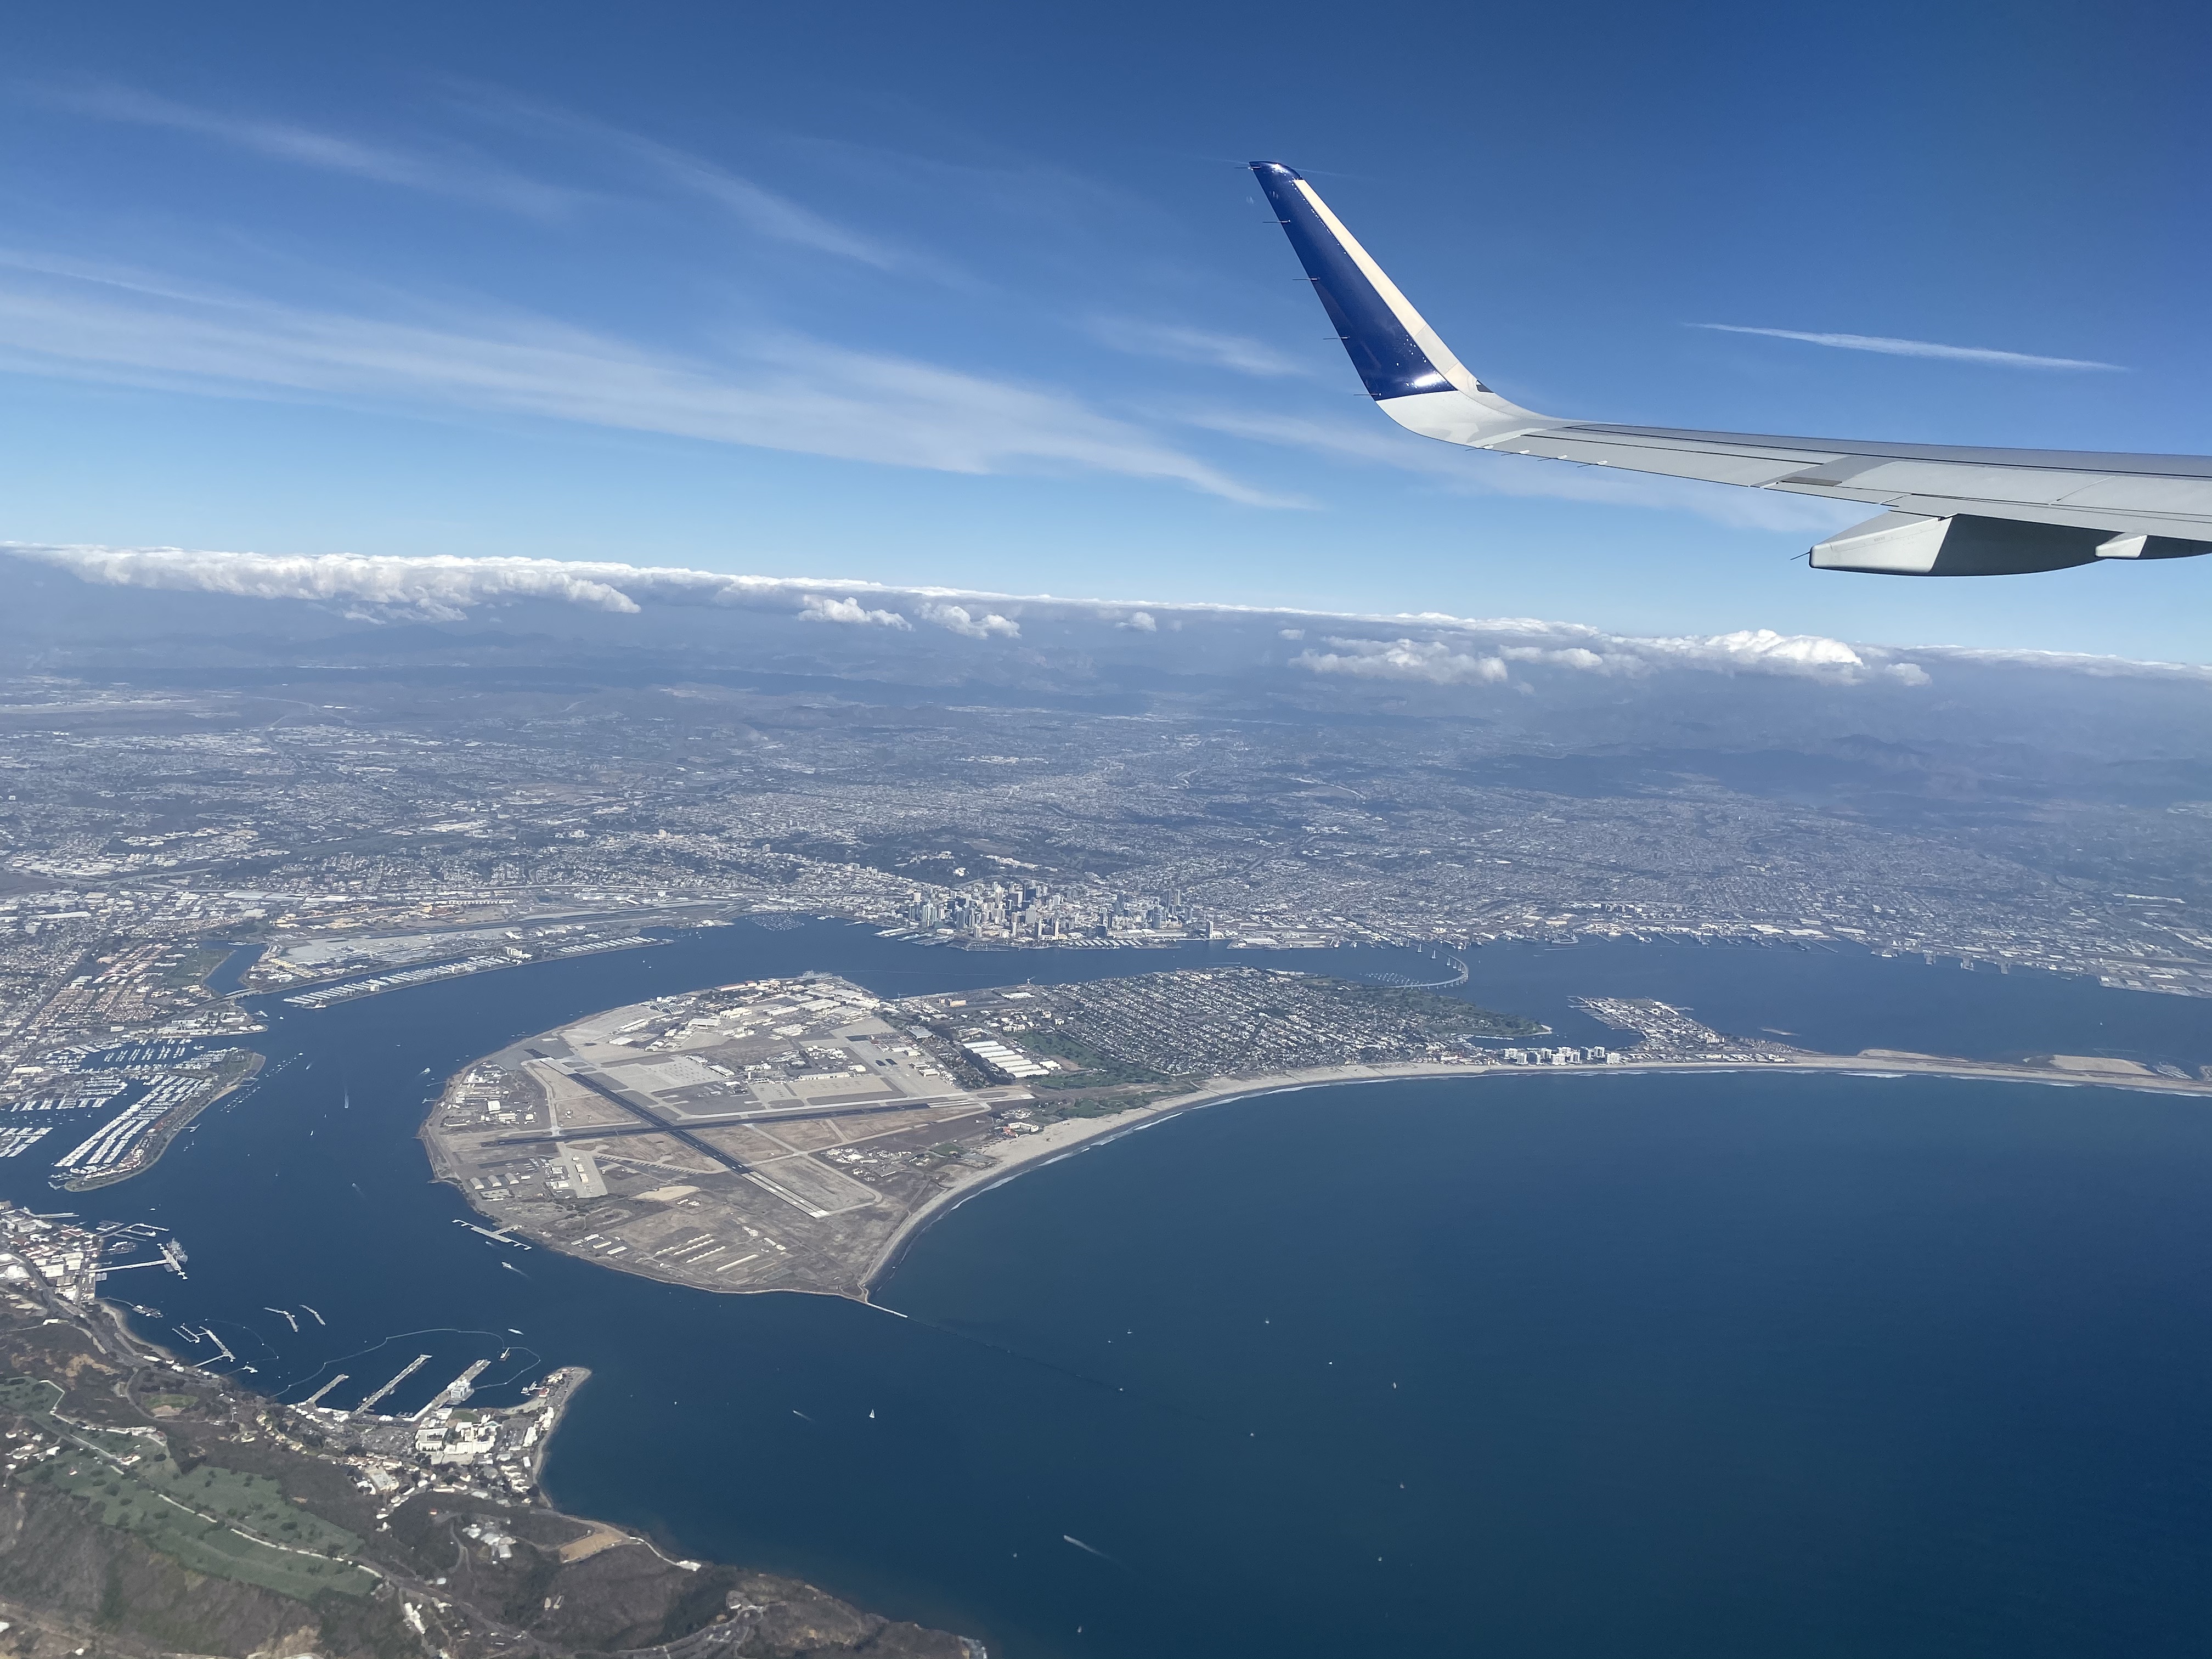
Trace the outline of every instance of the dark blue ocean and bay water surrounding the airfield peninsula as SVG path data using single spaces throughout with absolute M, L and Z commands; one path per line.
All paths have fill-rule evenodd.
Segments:
M 491 1398 L 588 1365 L 549 1467 L 564 1504 L 1000 1659 L 2212 1646 L 2203 1102 L 1772 1073 L 1298 1091 L 971 1199 L 883 1310 L 487 1243 L 414 1141 L 451 1068 L 666 989 L 1166 960 L 732 927 L 279 1004 L 263 1086 L 150 1175 L 55 1194 L 11 1159 L 0 1190 L 173 1225 L 190 1279 L 113 1294 L 159 1305 L 139 1327 L 195 1358 L 175 1327 L 212 1327 L 288 1398 L 345 1371 L 330 1400 L 352 1402 L 425 1352 L 387 1409 L 473 1358 L 507 1354 Z M 1584 1035 L 1568 995 L 1613 993 L 1807 1046 L 2212 1062 L 2203 1002 L 1918 958 L 1608 945 L 1471 967 L 1471 995 L 1564 1035 Z

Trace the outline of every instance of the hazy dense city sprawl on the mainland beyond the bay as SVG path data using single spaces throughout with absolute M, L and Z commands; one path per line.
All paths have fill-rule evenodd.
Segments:
M 250 1029 L 206 989 L 230 942 L 268 947 L 246 989 L 314 998 L 743 911 L 1024 949 L 1856 940 L 2212 991 L 2194 807 L 1882 814 L 1690 765 L 1590 787 L 1442 721 L 728 688 L 383 708 L 15 681 L 0 714 L 20 1097 L 53 1093 L 55 1051 Z

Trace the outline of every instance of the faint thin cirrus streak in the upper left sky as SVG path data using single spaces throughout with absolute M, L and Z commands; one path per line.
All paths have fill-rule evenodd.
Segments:
M 538 219 L 562 215 L 584 199 L 577 190 L 544 184 L 460 146 L 409 148 L 372 144 L 345 137 L 343 133 L 301 126 L 299 122 L 201 108 L 113 84 L 40 88 L 35 95 L 44 104 L 102 122 L 190 133 L 272 161 L 347 173 L 356 179 L 429 190 L 465 201 L 484 201 Z

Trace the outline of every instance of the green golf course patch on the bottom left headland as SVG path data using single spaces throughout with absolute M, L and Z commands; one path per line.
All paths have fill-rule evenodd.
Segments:
M 367 1595 L 376 1575 L 338 1559 L 361 1540 L 285 1498 L 268 1475 L 199 1464 L 184 1473 L 157 1433 L 88 1429 L 60 1420 L 51 1383 L 0 1380 L 0 1409 L 33 1418 L 62 1451 L 15 1478 L 88 1504 L 93 1520 L 135 1533 L 192 1573 L 241 1579 L 299 1601 L 323 1590 Z M 252 1533 L 252 1535 L 248 1535 Z

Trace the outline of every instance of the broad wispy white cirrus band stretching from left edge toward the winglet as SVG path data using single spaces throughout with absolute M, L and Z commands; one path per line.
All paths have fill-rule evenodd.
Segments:
M 0 252 L 0 367 L 531 416 L 951 473 L 1157 478 L 1250 507 L 1294 504 L 1060 387 L 792 334 L 706 358 L 515 310 L 363 316 Z

